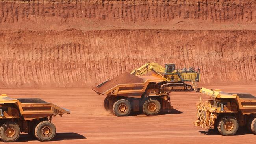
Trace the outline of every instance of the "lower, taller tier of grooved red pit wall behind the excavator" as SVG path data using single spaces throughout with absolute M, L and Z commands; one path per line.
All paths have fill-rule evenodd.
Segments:
M 154 61 L 202 84 L 256 83 L 255 30 L 0 31 L 1 87 L 90 87 Z

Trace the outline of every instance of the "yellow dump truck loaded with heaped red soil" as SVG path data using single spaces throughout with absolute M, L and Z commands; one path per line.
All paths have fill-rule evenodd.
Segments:
M 170 91 L 165 89 L 166 78 L 158 74 L 134 76 L 123 73 L 92 88 L 97 94 L 106 94 L 104 107 L 116 116 L 128 116 L 131 111 L 156 115 L 160 110 L 170 111 Z

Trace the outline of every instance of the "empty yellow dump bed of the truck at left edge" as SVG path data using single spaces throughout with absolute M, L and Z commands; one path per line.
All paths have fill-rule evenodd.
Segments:
M 45 102 L 39 98 L 12 99 L 5 94 L 0 96 L 0 118 L 20 118 L 32 120 L 48 116 L 70 114 L 70 111 Z

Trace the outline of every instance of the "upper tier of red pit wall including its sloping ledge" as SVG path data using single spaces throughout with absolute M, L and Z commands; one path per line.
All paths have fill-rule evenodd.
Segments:
M 131 24 L 145 26 L 150 22 L 157 22 L 159 28 L 163 22 L 174 22 L 183 29 L 183 25 L 193 27 L 199 21 L 236 28 L 246 25 L 242 28 L 248 29 L 256 22 L 256 0 L 0 0 L 0 5 L 0 25 L 5 30 L 102 30 L 101 24 L 126 29 L 134 28 Z

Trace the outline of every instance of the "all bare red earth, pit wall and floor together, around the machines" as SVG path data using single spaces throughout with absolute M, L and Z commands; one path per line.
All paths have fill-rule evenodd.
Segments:
M 194 128 L 194 92 L 173 92 L 171 114 L 120 118 L 104 111 L 104 96 L 74 87 L 157 62 L 199 67 L 200 86 L 250 85 L 214 88 L 256 95 L 255 7 L 255 0 L 0 0 L 0 87 L 55 87 L 1 94 L 70 109 L 53 118 L 58 144 L 254 143 L 240 128 L 232 137 Z M 27 134 L 20 142 L 39 143 Z

